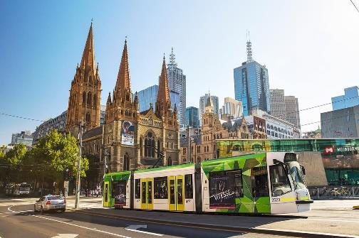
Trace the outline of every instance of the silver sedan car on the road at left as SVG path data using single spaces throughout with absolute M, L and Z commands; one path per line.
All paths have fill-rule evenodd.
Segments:
M 51 210 L 65 212 L 66 200 L 59 195 L 46 195 L 35 202 L 33 210 L 35 212 L 45 212 Z

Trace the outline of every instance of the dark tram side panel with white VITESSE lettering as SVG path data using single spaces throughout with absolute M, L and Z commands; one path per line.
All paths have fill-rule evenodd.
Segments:
M 209 207 L 236 207 L 235 198 L 243 197 L 241 170 L 209 173 Z

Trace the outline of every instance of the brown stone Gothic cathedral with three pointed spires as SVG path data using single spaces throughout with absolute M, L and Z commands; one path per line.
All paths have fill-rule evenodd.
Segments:
M 113 94 L 108 94 L 103 126 L 100 126 L 101 82 L 94 65 L 91 23 L 81 64 L 71 82 L 66 130 L 77 137 L 79 121 L 85 121 L 83 154 L 95 157 L 99 181 L 105 161 L 107 172 L 179 164 L 177 107 L 171 108 L 165 58 L 155 109 L 150 104 L 149 109 L 140 112 L 137 92 L 132 99 L 125 40 L 116 85 Z

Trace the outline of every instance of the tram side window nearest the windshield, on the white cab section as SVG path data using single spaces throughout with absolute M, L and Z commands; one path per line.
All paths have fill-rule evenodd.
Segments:
M 271 174 L 271 193 L 272 196 L 280 196 L 285 193 L 291 192 L 291 183 L 289 182 L 288 175 L 283 168 L 283 165 L 276 164 L 269 166 Z

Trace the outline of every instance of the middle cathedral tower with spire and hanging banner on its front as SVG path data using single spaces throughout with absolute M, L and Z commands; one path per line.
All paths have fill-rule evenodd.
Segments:
M 132 101 L 127 40 L 118 70 L 113 94 L 108 94 L 103 129 L 103 145 L 108 151 L 109 171 L 129 171 L 137 168 L 138 99 Z

